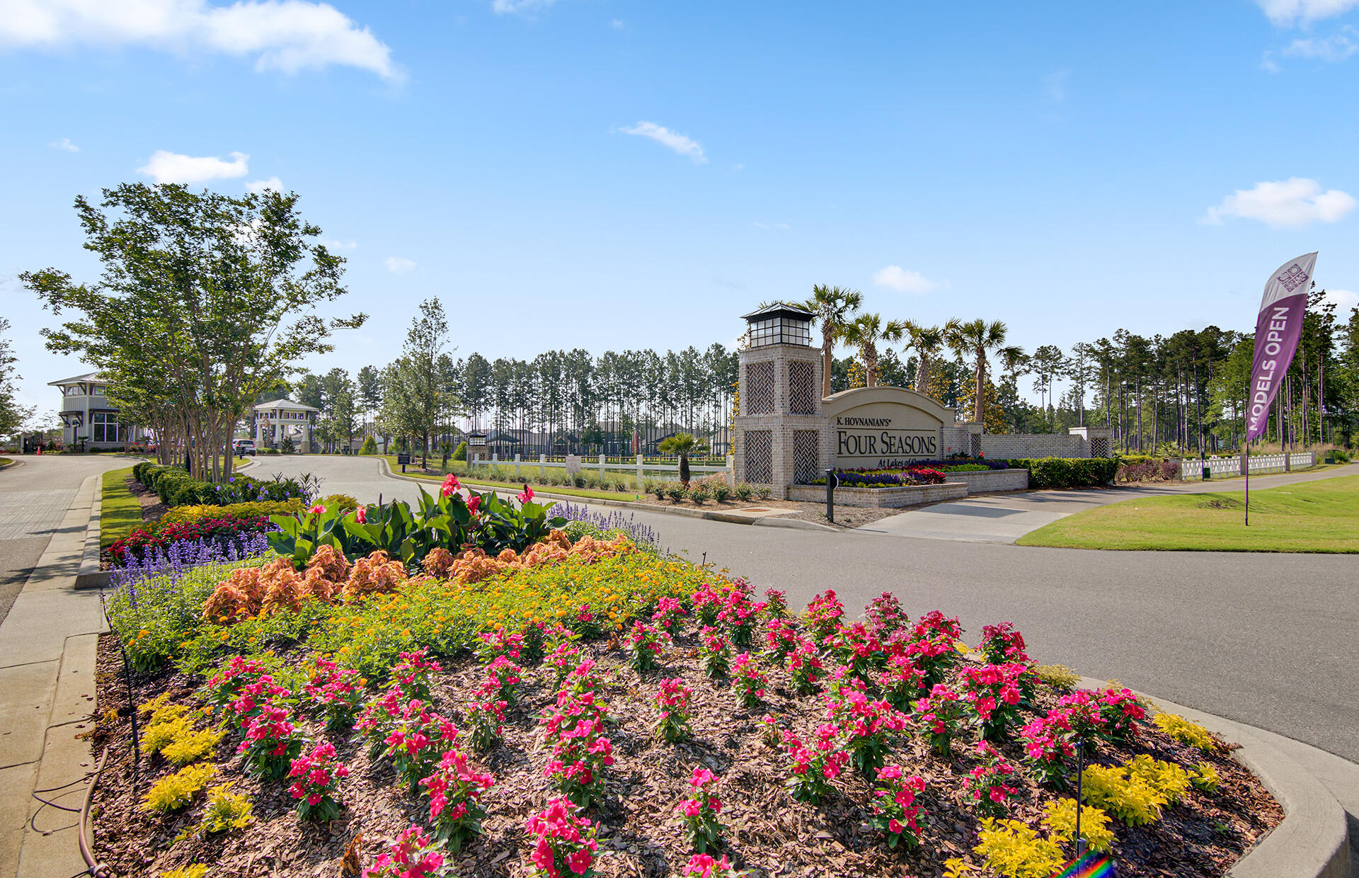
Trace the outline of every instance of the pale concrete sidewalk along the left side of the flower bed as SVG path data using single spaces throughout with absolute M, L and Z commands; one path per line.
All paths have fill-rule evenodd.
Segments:
M 65 878 L 86 870 L 79 810 L 92 771 L 87 720 L 95 646 L 105 631 L 98 591 L 76 591 L 86 530 L 99 492 L 87 477 L 0 624 L 0 878 Z

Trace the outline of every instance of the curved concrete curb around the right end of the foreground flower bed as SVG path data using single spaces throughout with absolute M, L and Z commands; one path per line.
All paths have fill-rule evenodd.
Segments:
M 1080 678 L 1082 688 L 1106 686 L 1102 680 Z M 1139 692 L 1137 695 L 1146 695 Z M 1241 746 L 1233 757 L 1246 767 L 1284 810 L 1275 826 L 1237 864 L 1227 878 L 1351 878 L 1349 825 L 1345 809 L 1316 776 L 1296 760 L 1265 743 L 1252 726 L 1204 714 L 1147 695 L 1162 709 L 1180 714 Z

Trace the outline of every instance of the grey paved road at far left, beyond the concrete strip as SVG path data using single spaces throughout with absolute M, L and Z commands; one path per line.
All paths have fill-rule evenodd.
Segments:
M 0 469 L 0 621 L 42 557 L 87 476 L 144 459 L 121 454 L 33 454 Z

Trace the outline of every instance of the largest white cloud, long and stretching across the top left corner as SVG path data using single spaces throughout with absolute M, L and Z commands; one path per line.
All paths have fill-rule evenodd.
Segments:
M 140 45 L 177 54 L 253 57 L 255 69 L 330 65 L 395 80 L 391 50 L 328 3 L 311 0 L 0 0 L 0 46 Z

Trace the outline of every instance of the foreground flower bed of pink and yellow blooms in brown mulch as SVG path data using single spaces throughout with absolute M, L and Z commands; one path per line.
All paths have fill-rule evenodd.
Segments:
M 805 621 L 768 598 L 632 550 L 212 625 L 179 655 L 202 674 L 133 681 L 160 697 L 135 790 L 106 642 L 96 855 L 120 875 L 1048 875 L 1082 745 L 1084 835 L 1121 875 L 1222 875 L 1282 818 L 1219 741 L 1068 690 L 1007 624 L 966 650 L 890 595 L 862 622 L 833 593 Z

